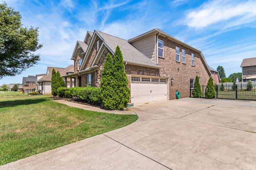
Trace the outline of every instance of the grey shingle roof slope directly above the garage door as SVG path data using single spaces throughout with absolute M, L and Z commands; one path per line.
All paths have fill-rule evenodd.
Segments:
M 128 43 L 127 40 L 117 38 L 115 36 L 111 36 L 100 31 L 96 32 L 103 38 L 103 41 L 108 45 L 108 47 L 110 47 L 113 52 L 116 51 L 116 46 L 118 45 L 122 51 L 123 59 L 125 61 L 157 66 L 156 63 L 154 63 L 138 49 L 136 49 L 136 47 Z

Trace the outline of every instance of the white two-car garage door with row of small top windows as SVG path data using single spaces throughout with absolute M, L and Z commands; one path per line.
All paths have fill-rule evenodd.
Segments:
M 168 99 L 168 79 L 131 75 L 131 102 L 134 104 Z

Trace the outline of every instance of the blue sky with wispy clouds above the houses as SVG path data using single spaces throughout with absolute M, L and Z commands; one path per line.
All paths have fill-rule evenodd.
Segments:
M 226 76 L 241 72 L 242 59 L 256 57 L 256 0 L 5 0 L 24 26 L 39 27 L 41 60 L 0 85 L 46 73 L 47 66 L 74 64 L 76 41 L 99 30 L 123 39 L 159 28 L 202 51 L 208 65 Z

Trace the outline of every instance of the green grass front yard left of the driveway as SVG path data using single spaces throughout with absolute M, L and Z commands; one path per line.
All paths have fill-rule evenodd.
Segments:
M 137 115 L 85 111 L 51 95 L 0 93 L 0 165 L 135 122 Z

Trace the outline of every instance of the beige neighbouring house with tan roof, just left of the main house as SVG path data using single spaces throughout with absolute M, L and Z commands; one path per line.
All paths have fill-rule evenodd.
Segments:
M 47 71 L 45 74 L 36 75 L 36 91 L 40 91 L 40 93 L 42 94 L 52 93 L 52 69 L 55 69 L 56 72 L 59 71 L 61 77 L 74 73 L 74 65 L 69 65 L 66 68 L 47 67 Z M 66 80 L 66 87 L 70 87 L 70 79 Z

